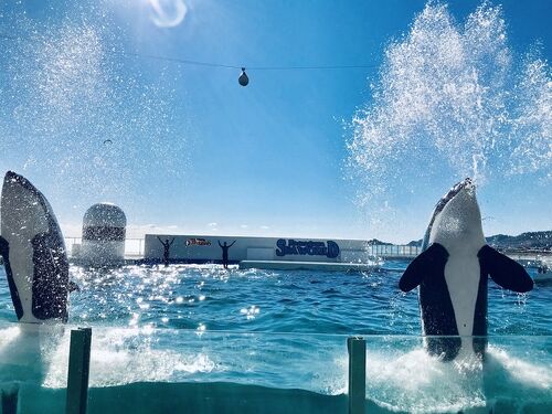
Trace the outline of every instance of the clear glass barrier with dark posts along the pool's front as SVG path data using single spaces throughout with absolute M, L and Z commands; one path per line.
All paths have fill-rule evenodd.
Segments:
M 420 336 L 28 323 L 0 335 L 2 414 L 552 408 L 551 336 L 485 338 L 485 370 L 429 357 L 433 337 Z

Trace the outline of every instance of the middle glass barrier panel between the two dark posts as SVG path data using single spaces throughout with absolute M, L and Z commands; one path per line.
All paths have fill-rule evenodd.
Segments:
M 91 412 L 344 413 L 347 338 L 95 328 Z

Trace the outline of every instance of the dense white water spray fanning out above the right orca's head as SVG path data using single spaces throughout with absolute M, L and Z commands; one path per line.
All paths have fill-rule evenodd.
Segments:
M 429 2 L 388 45 L 372 100 L 352 119 L 348 166 L 362 183 L 359 201 L 393 210 L 393 197 L 465 177 L 549 181 L 551 79 L 538 53 L 516 56 L 500 7 L 484 3 L 459 24 Z

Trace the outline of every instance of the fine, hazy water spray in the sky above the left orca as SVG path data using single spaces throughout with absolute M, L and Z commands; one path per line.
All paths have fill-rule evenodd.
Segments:
M 100 22 L 100 23 L 98 23 Z M 91 6 L 40 23 L 15 8 L 0 24 L 2 163 L 63 183 L 55 200 L 136 199 L 160 170 L 182 178 L 188 142 L 178 74 L 126 53 L 125 29 Z M 149 72 L 148 72 L 149 71 Z M 106 144 L 108 142 L 108 144 Z M 9 156 L 8 156 L 9 155 Z M 75 192 L 78 189 L 78 192 Z

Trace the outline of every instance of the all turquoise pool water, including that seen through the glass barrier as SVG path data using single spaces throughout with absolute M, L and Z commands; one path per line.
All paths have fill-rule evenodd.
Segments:
M 396 286 L 406 265 L 72 267 L 81 291 L 71 296 L 68 326 L 93 327 L 89 410 L 346 412 L 346 339 L 362 335 L 370 412 L 549 412 L 551 287 L 518 295 L 490 283 L 485 364 L 447 364 L 423 351 L 417 297 Z M 14 320 L 0 282 L 0 384 L 18 384 L 20 412 L 62 412 L 68 329 Z

